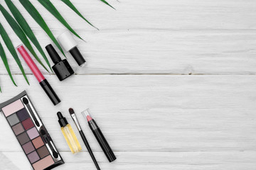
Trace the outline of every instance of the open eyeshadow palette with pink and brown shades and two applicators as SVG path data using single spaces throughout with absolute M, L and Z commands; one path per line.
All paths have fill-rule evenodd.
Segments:
M 34 170 L 48 170 L 64 164 L 26 91 L 1 103 L 0 111 Z

